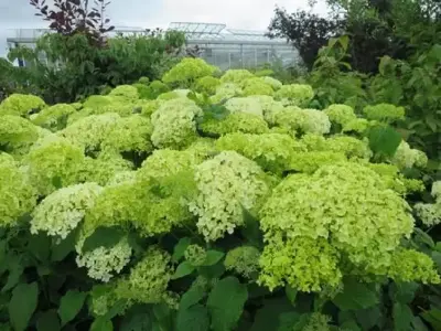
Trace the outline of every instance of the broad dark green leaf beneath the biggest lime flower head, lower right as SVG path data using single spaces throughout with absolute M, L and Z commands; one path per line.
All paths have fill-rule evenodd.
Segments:
M 372 285 L 348 278 L 344 281 L 343 292 L 336 295 L 333 302 L 342 310 L 366 309 L 378 303 L 378 296 Z

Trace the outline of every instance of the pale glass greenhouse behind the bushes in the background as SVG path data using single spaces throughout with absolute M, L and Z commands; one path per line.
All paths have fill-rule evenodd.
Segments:
M 226 24 L 172 22 L 169 30 L 181 31 L 186 36 L 189 47 L 197 49 L 197 56 L 218 66 L 220 70 L 252 68 L 265 64 L 279 64 L 283 67 L 299 63 L 297 50 L 283 39 L 270 39 L 263 31 L 229 29 Z M 49 29 L 19 29 L 8 38 L 8 47 L 32 46 L 36 39 Z M 117 34 L 146 33 L 142 28 L 118 28 Z M 25 63 L 19 63 L 20 66 Z

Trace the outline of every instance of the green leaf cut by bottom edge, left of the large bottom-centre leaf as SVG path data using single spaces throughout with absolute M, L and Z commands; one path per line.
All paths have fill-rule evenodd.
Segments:
M 178 312 L 176 331 L 208 331 L 207 309 L 202 305 L 193 306 Z

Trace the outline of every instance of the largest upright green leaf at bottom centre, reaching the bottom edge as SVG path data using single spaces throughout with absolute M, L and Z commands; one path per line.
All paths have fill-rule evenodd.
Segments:
M 219 280 L 208 296 L 207 307 L 214 331 L 233 330 L 248 299 L 247 287 L 236 277 Z

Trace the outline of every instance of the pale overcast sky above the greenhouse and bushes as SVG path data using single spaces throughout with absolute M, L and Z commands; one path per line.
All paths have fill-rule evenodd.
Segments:
M 46 0 L 47 3 L 51 0 Z M 92 1 L 90 1 L 92 2 Z M 276 6 L 308 8 L 308 0 L 112 0 L 108 17 L 117 26 L 166 28 L 170 22 L 225 23 L 232 29 L 266 30 Z M 315 12 L 325 13 L 319 3 Z M 29 0 L 0 0 L 0 56 L 15 29 L 45 28 Z

